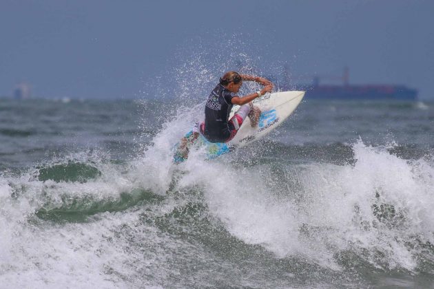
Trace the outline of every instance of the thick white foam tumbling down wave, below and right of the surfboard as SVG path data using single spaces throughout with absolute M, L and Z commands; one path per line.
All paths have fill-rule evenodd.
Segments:
M 189 174 L 181 184 L 201 186 L 211 213 L 229 232 L 278 257 L 302 255 L 336 269 L 335 253 L 351 250 L 373 266 L 415 270 L 420 248 L 406 242 L 434 242 L 432 165 L 402 160 L 362 141 L 353 150 L 353 165 L 289 167 L 287 180 L 276 180 L 264 165 L 194 160 L 187 162 Z M 269 189 L 267 180 L 279 182 L 282 191 Z M 287 191 L 285 182 L 294 181 L 301 191 Z M 287 197 L 276 197 L 282 193 Z M 380 222 L 373 204 L 391 205 L 395 214 Z

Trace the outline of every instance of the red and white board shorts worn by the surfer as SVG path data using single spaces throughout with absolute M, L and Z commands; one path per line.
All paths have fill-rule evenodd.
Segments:
M 221 132 L 220 138 L 218 139 L 209 139 L 205 134 L 205 122 L 201 122 L 198 125 L 197 131 L 200 132 L 209 142 L 229 142 L 231 141 L 240 129 L 242 122 L 244 122 L 245 118 L 249 114 L 251 106 L 241 105 L 241 107 L 236 111 L 234 116 L 227 122 L 227 129 Z

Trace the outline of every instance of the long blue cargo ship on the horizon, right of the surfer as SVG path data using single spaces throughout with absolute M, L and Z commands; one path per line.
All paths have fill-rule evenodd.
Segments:
M 417 100 L 417 89 L 405 85 L 349 85 L 349 69 L 345 67 L 342 85 L 320 85 L 320 77 L 313 77 L 310 85 L 281 86 L 282 90 L 302 89 L 306 99 L 340 100 Z

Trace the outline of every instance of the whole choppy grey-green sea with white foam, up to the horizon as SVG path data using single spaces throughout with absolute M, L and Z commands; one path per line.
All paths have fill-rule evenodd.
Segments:
M 0 288 L 434 288 L 434 103 L 175 165 L 203 100 L 0 99 Z

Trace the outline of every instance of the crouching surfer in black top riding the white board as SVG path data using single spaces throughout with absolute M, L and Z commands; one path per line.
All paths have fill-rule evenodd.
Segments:
M 242 81 L 255 81 L 264 87 L 253 94 L 237 96 Z M 198 138 L 199 133 L 202 133 L 209 142 L 229 142 L 236 136 L 238 129 L 240 129 L 247 116 L 250 119 L 251 126 L 256 127 L 260 110 L 254 107 L 251 101 L 272 90 L 273 83 L 267 78 L 238 74 L 238 72 L 234 71 L 226 72 L 208 97 L 205 105 L 205 122 L 200 123 L 181 140 L 178 153 L 183 158 L 187 158 L 189 144 L 192 144 Z M 240 108 L 229 119 L 229 114 L 234 105 L 240 105 Z

